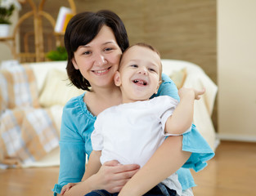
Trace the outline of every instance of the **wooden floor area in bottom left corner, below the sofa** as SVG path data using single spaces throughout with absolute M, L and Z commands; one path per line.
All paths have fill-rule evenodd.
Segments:
M 59 167 L 0 170 L 0 195 L 53 195 Z

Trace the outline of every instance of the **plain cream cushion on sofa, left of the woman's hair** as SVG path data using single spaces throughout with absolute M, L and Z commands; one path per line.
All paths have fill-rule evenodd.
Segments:
M 79 96 L 83 90 L 70 85 L 70 80 L 65 71 L 51 69 L 47 73 L 43 89 L 39 96 L 39 103 L 43 107 L 52 105 L 65 105 L 74 96 Z

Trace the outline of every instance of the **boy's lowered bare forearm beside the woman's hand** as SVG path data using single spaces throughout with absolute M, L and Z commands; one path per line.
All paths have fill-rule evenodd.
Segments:
M 89 177 L 91 177 L 93 174 L 96 174 L 97 171 L 100 170 L 101 168 L 100 157 L 101 157 L 101 150 L 98 150 L 98 151 L 92 150 L 92 153 L 90 154 L 90 158 L 88 160 L 88 164 L 86 166 L 86 170 L 84 172 L 82 180 L 88 179 Z

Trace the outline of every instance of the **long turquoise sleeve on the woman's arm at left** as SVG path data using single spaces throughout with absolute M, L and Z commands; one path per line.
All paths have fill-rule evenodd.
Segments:
M 85 171 L 85 142 L 79 133 L 78 104 L 75 100 L 70 100 L 63 109 L 61 119 L 61 140 L 60 140 L 60 171 L 58 184 L 52 191 L 55 195 L 61 193 L 64 185 L 70 182 L 79 182 Z M 80 112 L 81 113 L 81 112 Z

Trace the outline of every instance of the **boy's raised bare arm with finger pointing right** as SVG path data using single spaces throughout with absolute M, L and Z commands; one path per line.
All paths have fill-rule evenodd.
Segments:
M 184 133 L 193 122 L 194 100 L 200 100 L 200 96 L 204 94 L 204 89 L 197 91 L 193 88 L 182 87 L 178 94 L 180 103 L 174 109 L 173 115 L 170 116 L 165 123 L 165 132 L 171 134 Z

